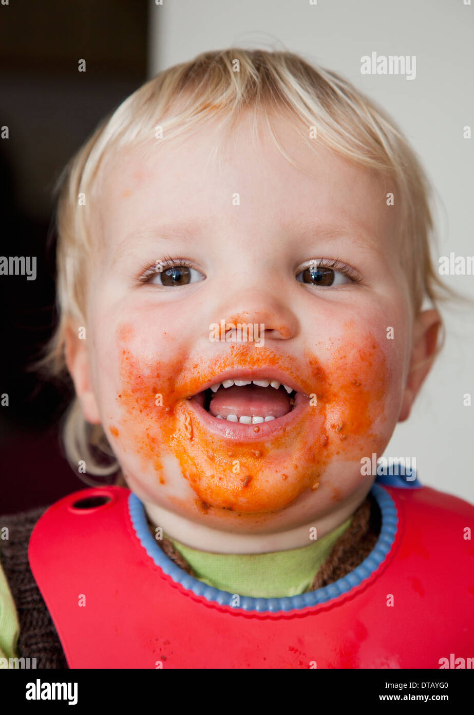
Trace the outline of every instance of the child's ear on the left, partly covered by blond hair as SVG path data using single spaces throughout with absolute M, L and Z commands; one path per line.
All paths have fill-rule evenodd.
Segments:
M 79 330 L 81 330 L 79 327 L 72 325 L 66 328 L 64 357 L 74 382 L 76 395 L 81 402 L 84 419 L 93 425 L 99 425 L 101 418 L 92 388 L 86 340 L 79 337 Z

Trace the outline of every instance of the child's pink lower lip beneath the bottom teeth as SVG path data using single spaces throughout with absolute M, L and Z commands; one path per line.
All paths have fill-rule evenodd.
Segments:
M 257 442 L 258 440 L 269 440 L 281 435 L 284 430 L 291 428 L 300 420 L 309 407 L 308 399 L 304 395 L 298 394 L 295 399 L 295 406 L 291 412 L 283 417 L 278 417 L 269 422 L 259 422 L 255 425 L 243 425 L 239 422 L 229 420 L 218 420 L 218 418 L 208 413 L 201 405 L 192 398 L 188 400 L 196 418 L 206 427 L 206 429 L 219 437 L 223 437 L 229 442 Z M 255 428 L 258 427 L 258 431 Z

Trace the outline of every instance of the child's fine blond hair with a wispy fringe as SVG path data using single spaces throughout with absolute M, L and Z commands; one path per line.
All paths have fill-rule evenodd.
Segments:
M 161 71 L 133 92 L 99 124 L 56 185 L 59 325 L 41 361 L 50 374 L 67 373 L 64 344 L 68 325 L 71 321 L 86 325 L 84 275 L 96 250 L 91 197 L 105 157 L 112 150 L 152 141 L 157 126 L 163 132 L 160 141 L 169 141 L 188 136 L 210 119 L 217 118 L 224 126 L 238 121 L 243 111 L 251 111 L 253 127 L 256 119 L 263 117 L 273 142 L 295 164 L 273 134 L 271 110 L 284 110 L 294 119 L 308 147 L 314 147 L 316 133 L 316 143 L 393 180 L 401 208 L 400 257 L 415 315 L 425 298 L 436 306 L 452 293 L 441 282 L 430 257 L 432 189 L 413 149 L 380 107 L 334 72 L 311 66 L 287 51 L 230 48 L 204 52 Z M 84 206 L 78 205 L 82 193 L 88 197 Z M 116 461 L 104 465 L 101 460 L 100 455 L 112 460 L 114 455 L 101 426 L 85 422 L 78 398 L 66 415 L 64 441 L 74 468 L 79 460 L 85 460 L 90 474 L 109 475 L 117 470 Z

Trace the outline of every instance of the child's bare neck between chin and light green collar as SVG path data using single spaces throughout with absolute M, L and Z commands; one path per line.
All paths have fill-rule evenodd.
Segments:
M 143 506 L 153 526 L 161 527 L 167 536 L 198 551 L 271 553 L 308 546 L 311 543 L 311 533 L 316 533 L 318 539 L 323 538 L 347 521 L 364 501 L 366 495 L 366 493 L 362 495 L 358 493 L 353 499 L 341 505 L 338 511 L 313 518 L 311 523 L 305 523 L 287 531 L 253 534 L 209 528 L 146 501 L 143 501 Z M 316 532 L 310 531 L 314 528 L 316 528 Z

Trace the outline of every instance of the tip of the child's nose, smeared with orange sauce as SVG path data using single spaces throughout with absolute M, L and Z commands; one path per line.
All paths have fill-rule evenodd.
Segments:
M 258 326 L 258 335 L 265 340 L 288 340 L 298 332 L 298 319 L 282 297 L 263 290 L 239 291 L 226 297 L 219 308 L 216 322 L 224 321 L 225 329 L 231 330 L 239 323 Z

